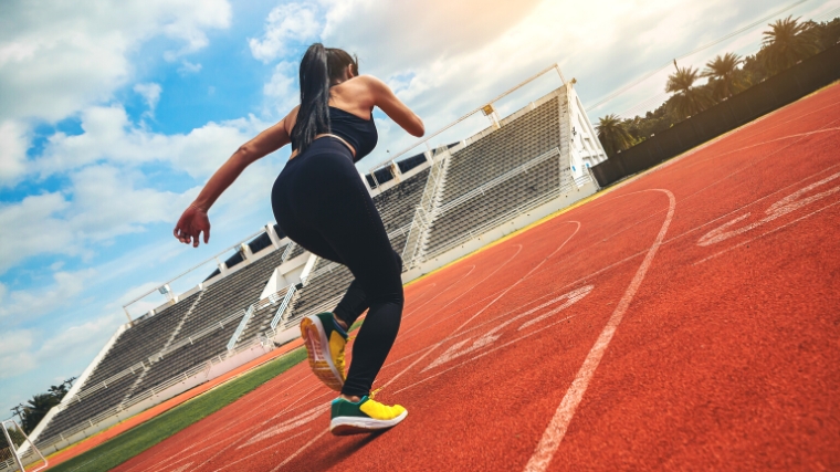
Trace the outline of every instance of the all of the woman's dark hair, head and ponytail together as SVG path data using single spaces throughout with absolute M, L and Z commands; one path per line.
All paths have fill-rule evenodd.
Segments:
M 344 76 L 353 64 L 354 75 L 359 74 L 358 59 L 337 48 L 315 43 L 301 60 L 301 108 L 292 128 L 292 140 L 300 153 L 306 150 L 316 135 L 329 133 L 329 86 Z

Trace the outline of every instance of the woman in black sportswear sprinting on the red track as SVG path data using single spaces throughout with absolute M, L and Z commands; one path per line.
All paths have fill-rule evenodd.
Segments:
M 351 434 L 390 428 L 408 411 L 370 395 L 393 345 L 402 316 L 402 261 L 354 162 L 376 146 L 372 111 L 378 106 L 413 136 L 423 122 L 380 80 L 358 75 L 345 51 L 309 46 L 301 61 L 301 105 L 242 145 L 216 171 L 175 228 L 181 242 L 210 239 L 207 211 L 251 162 L 286 144 L 292 156 L 272 189 L 277 224 L 307 251 L 349 268 L 355 280 L 333 313 L 304 318 L 301 332 L 313 373 L 340 391 L 332 403 L 330 431 Z M 368 310 L 345 375 L 347 331 Z

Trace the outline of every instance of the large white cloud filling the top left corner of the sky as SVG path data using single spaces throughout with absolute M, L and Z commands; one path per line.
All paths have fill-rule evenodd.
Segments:
M 108 99 L 133 73 L 128 55 L 154 36 L 182 44 L 168 59 L 208 44 L 228 28 L 225 0 L 116 3 L 19 1 L 0 19 L 0 120 L 59 120 Z

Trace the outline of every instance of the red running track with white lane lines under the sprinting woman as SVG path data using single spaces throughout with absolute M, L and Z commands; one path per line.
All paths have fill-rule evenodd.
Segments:
M 840 468 L 840 86 L 407 287 L 327 432 L 300 365 L 118 471 Z

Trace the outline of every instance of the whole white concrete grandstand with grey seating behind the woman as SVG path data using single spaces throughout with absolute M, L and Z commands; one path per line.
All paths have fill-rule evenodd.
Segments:
M 491 116 L 481 133 L 393 158 L 360 178 L 410 281 L 595 193 L 588 168 L 603 159 L 574 81 L 564 81 L 504 119 Z M 234 248 L 198 286 L 129 317 L 31 434 L 41 451 L 300 337 L 300 319 L 332 311 L 353 281 L 346 266 L 306 252 L 273 224 Z

